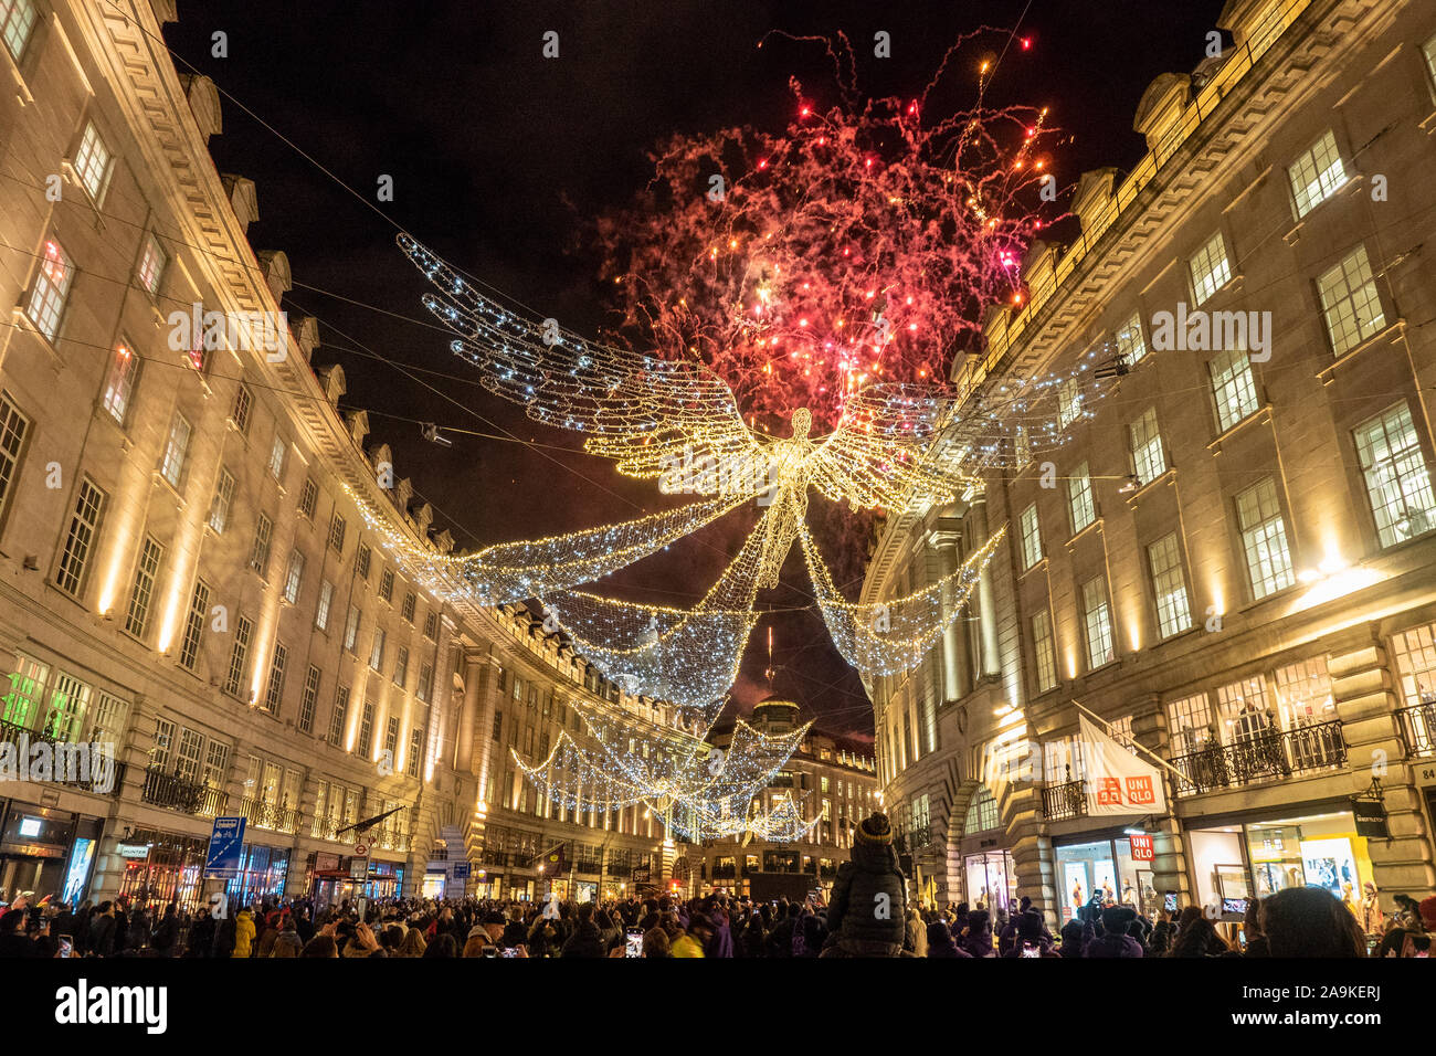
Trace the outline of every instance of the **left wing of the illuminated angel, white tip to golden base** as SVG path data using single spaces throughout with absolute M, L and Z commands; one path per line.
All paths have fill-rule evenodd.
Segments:
M 478 368 L 490 392 L 534 421 L 587 434 L 584 450 L 615 460 L 630 477 L 681 480 L 665 490 L 715 494 L 734 490 L 734 480 L 747 487 L 752 474 L 717 473 L 763 460 L 717 374 L 584 341 L 554 319 L 524 318 L 408 234 L 398 241 L 434 283 L 424 306 L 458 335 L 449 348 Z

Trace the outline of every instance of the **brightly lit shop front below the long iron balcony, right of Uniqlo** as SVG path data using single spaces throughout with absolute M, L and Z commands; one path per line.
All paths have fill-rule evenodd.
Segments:
M 1251 898 L 1321 888 L 1344 902 L 1369 932 L 1379 930 L 1380 918 L 1367 921 L 1361 907 L 1363 885 L 1373 881 L 1367 840 L 1343 806 L 1193 820 L 1186 843 L 1196 898 L 1236 921 Z

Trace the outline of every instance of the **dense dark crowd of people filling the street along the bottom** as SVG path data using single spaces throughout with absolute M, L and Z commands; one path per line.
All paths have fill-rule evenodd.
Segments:
M 123 897 L 78 908 L 17 899 L 0 915 L 0 957 L 1426 957 L 1436 932 L 1436 897 L 1406 898 L 1369 935 L 1323 888 L 1251 901 L 1228 928 L 1235 942 L 1200 907 L 1150 920 L 1093 899 L 1053 935 L 1025 898 L 994 917 L 906 905 L 903 892 L 887 819 L 873 815 L 827 901 L 395 898 L 316 912 L 297 899 L 211 915 Z

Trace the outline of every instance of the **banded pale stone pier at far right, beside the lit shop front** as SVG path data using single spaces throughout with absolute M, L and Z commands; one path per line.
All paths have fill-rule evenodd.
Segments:
M 1367 853 L 1381 912 L 1391 912 L 1391 895 L 1402 891 L 1420 899 L 1436 886 L 1432 833 L 1422 813 L 1420 792 L 1412 764 L 1403 761 L 1406 743 L 1396 710 L 1400 698 L 1393 688 L 1386 644 L 1369 625 L 1369 635 L 1328 661 L 1331 695 L 1347 744 L 1351 793 L 1364 793 L 1373 776 L 1386 793 L 1386 823 L 1390 839 L 1369 839 Z

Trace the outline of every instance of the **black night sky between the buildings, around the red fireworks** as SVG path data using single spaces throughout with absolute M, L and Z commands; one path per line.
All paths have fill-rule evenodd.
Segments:
M 646 182 L 659 139 L 740 124 L 781 131 L 790 76 L 820 105 L 836 102 L 821 46 L 773 37 L 758 49 L 770 30 L 843 30 L 864 93 L 912 96 L 961 34 L 995 27 L 949 66 L 928 103 L 935 112 L 974 99 L 981 56 L 1002 52 L 1020 26 L 1031 47 L 1007 50 L 988 99 L 1051 108 L 1050 124 L 1070 134 L 1053 171 L 1070 188 L 1084 170 L 1126 170 L 1142 157 L 1132 131 L 1142 92 L 1156 75 L 1200 62 L 1221 9 L 1221 0 L 184 0 L 167 40 L 181 72 L 198 69 L 227 96 L 223 135 L 210 147 L 221 172 L 257 184 L 261 218 L 250 238 L 256 250 L 289 254 L 296 286 L 284 306 L 320 320 L 314 365 L 343 363 L 345 405 L 369 411 L 370 443 L 393 447 L 396 474 L 412 478 L 461 549 L 474 549 L 626 520 L 678 499 L 622 477 L 583 454 L 573 434 L 480 388 L 419 303 L 425 283 L 393 243 L 401 227 L 538 318 L 597 336 L 610 319 L 583 233 Z M 210 53 L 215 30 L 228 34 L 228 57 Z M 546 30 L 559 33 L 559 59 L 541 57 Z M 873 57 L 877 30 L 892 36 L 890 59 Z M 392 203 L 376 201 L 382 174 L 393 177 Z M 425 443 L 422 421 L 445 428 L 454 447 Z M 691 603 L 752 516 L 729 514 L 606 582 L 630 599 Z M 833 557 L 840 580 L 860 578 L 860 552 Z M 797 547 L 784 580 L 760 595 L 760 606 L 783 611 L 754 634 L 738 708 L 767 691 L 771 624 L 777 691 L 820 727 L 870 741 L 856 672 L 820 616 L 803 609 L 811 596 Z

